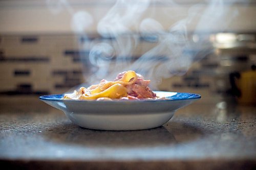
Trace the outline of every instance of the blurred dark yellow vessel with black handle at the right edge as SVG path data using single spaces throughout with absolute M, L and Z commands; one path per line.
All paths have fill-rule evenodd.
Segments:
M 236 95 L 238 103 L 256 104 L 256 66 L 251 70 L 234 72 L 230 74 L 230 83 L 233 94 Z

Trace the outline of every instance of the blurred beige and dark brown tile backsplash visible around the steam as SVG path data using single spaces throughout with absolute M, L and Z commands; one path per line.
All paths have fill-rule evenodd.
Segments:
M 136 59 L 156 45 L 154 37 L 138 37 L 139 45 L 132 54 Z M 86 39 L 73 34 L 0 35 L 0 94 L 41 95 L 63 93 L 87 82 L 92 65 L 90 45 L 79 50 L 81 44 L 113 39 L 91 35 Z M 82 62 L 81 58 L 82 57 Z M 163 79 L 160 90 L 203 93 L 213 96 L 220 91 L 214 75 L 219 58 L 210 53 L 195 62 L 183 76 Z M 226 90 L 226 89 L 225 89 Z

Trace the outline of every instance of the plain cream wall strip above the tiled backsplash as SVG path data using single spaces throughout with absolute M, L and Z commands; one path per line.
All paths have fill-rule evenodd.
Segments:
M 72 33 L 74 31 L 72 25 L 73 19 L 75 15 L 79 15 L 79 12 L 86 12 L 91 16 L 91 18 L 88 17 L 84 22 L 88 24 L 85 31 L 94 33 L 97 31 L 98 21 L 108 13 L 115 2 L 116 1 L 113 0 L 0 1 L 0 33 Z M 140 3 L 143 5 L 143 2 L 144 1 L 141 1 Z M 194 31 L 197 27 L 198 18 L 202 17 L 201 14 L 207 13 L 210 10 L 206 2 L 207 1 L 200 0 L 183 0 L 179 1 L 179 4 L 176 4 L 170 3 L 169 1 L 152 1 L 139 19 L 136 17 L 132 18 L 131 22 L 135 19 L 138 19 L 139 22 L 131 27 L 131 31 L 138 31 L 140 21 L 145 18 L 157 20 L 164 30 L 168 30 L 170 26 L 173 26 L 177 21 L 195 15 L 197 12 L 193 12 L 195 8 L 192 9 L 191 6 L 198 4 L 196 8 L 200 9 L 198 10 L 200 15 L 195 15 L 193 21 L 189 23 L 186 28 L 188 31 Z M 218 3 L 219 1 L 212 2 Z M 255 31 L 256 22 L 254 20 L 256 16 L 256 3 L 253 1 L 237 1 L 237 3 L 230 5 L 230 2 L 223 1 L 223 6 L 218 5 L 218 7 L 223 7 L 222 10 L 214 9 L 214 11 L 216 10 L 216 15 L 222 12 L 225 13 L 225 16 L 220 17 L 218 24 L 205 29 L 208 25 L 208 23 L 205 23 L 204 25 L 206 27 L 202 26 L 197 31 Z M 130 3 L 132 3 L 132 1 Z M 130 10 L 125 11 L 122 9 L 122 6 L 118 10 L 123 10 L 123 13 L 134 12 Z M 141 10 L 143 10 L 143 8 L 141 8 Z M 86 16 L 83 14 L 81 16 Z M 210 21 L 211 19 L 212 17 L 209 16 L 207 20 Z M 229 23 L 228 27 L 226 27 L 226 23 Z

